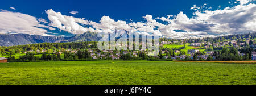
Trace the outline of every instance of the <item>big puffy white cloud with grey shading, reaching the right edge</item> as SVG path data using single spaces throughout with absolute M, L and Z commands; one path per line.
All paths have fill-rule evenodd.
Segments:
M 180 12 L 170 24 L 160 27 L 164 36 L 174 38 L 209 37 L 256 31 L 256 5 L 237 5 L 223 10 L 196 11 L 195 18 Z M 168 20 L 166 20 L 168 21 Z M 179 32 L 177 30 L 183 30 Z

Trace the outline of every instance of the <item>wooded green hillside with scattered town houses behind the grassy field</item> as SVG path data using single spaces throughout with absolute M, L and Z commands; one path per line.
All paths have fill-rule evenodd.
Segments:
M 207 37 L 203 39 L 166 39 L 159 41 L 158 56 L 147 50 L 100 51 L 96 41 L 40 43 L 0 47 L 5 62 L 68 60 L 256 60 L 255 33 Z

